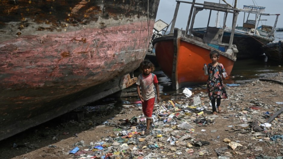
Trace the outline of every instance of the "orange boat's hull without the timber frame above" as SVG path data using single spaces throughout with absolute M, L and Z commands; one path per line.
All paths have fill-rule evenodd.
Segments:
M 175 30 L 174 30 L 175 31 Z M 216 50 L 205 45 L 202 41 L 197 41 L 193 37 L 174 35 L 164 35 L 154 39 L 154 48 L 157 62 L 178 88 L 207 82 L 207 75 L 204 75 L 202 68 L 204 63 L 211 63 L 210 52 Z M 179 39 L 179 40 L 178 40 Z M 231 74 L 236 54 L 228 55 L 221 51 L 219 63 L 225 66 L 227 75 Z

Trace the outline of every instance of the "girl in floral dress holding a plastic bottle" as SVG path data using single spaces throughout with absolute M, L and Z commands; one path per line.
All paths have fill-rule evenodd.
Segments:
M 218 62 L 219 52 L 211 51 L 210 59 L 212 63 L 208 64 L 208 79 L 207 79 L 207 90 L 208 96 L 212 104 L 212 113 L 215 115 L 216 107 L 215 100 L 218 111 L 221 111 L 220 102 L 222 98 L 227 98 L 224 83 L 222 81 L 222 73 L 225 72 L 224 66 Z M 204 68 L 203 68 L 204 70 Z

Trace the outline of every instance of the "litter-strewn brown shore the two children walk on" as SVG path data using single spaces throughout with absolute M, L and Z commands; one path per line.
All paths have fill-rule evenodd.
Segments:
M 283 74 L 279 72 L 278 75 L 272 77 L 272 79 L 283 81 Z M 169 122 L 163 123 L 165 117 L 157 118 L 155 122 L 157 126 L 151 130 L 152 135 L 139 136 L 136 134 L 134 137 L 138 139 L 144 138 L 145 141 L 138 144 L 128 143 L 129 149 L 125 150 L 124 157 L 120 154 L 120 158 L 128 158 L 130 154 L 134 154 L 135 158 L 144 158 L 153 152 L 156 154 L 153 158 L 157 156 L 161 156 L 161 158 L 171 158 L 174 156 L 179 158 L 203 157 L 212 159 L 217 158 L 218 154 L 230 156 L 231 158 L 255 158 L 255 156 L 259 154 L 265 154 L 271 157 L 282 155 L 280 153 L 282 151 L 280 148 L 280 146 L 282 146 L 282 140 L 278 139 L 278 142 L 270 140 L 272 136 L 281 135 L 283 130 L 282 114 L 271 122 L 272 127 L 267 128 L 266 131 L 255 132 L 250 126 L 250 122 L 255 119 L 260 119 L 262 122 L 266 121 L 282 107 L 282 105 L 275 103 L 283 102 L 282 88 L 283 86 L 280 84 L 259 80 L 240 84 L 238 87 L 226 87 L 229 98 L 222 100 L 221 106 L 223 113 L 218 113 L 217 117 L 212 115 L 207 93 L 201 92 L 194 94 L 194 96 L 200 96 L 201 104 L 199 107 L 206 106 L 206 109 L 208 109 L 204 111 L 204 115 L 197 116 L 197 113 L 201 111 L 171 111 L 171 113 L 175 113 L 175 116 L 178 113 L 180 114 L 179 117 L 174 117 L 171 120 L 175 121 L 176 124 L 170 124 Z M 135 101 L 134 98 L 135 97 L 129 99 L 129 101 Z M 158 105 L 166 106 L 167 108 L 168 106 L 170 107 L 169 99 L 172 99 L 175 104 L 181 106 L 190 105 L 192 102 L 192 97 L 187 98 L 183 93 L 170 96 L 161 95 L 161 99 L 162 102 Z M 0 154 L 3 159 L 36 159 L 43 157 L 45 159 L 78 158 L 73 154 L 68 154 L 68 152 L 75 147 L 75 144 L 78 145 L 81 144 L 79 142 L 84 141 L 84 145 L 82 144 L 82 147 L 79 149 L 83 150 L 89 148 L 91 142 L 105 142 L 105 139 L 109 137 L 113 139 L 117 137 L 116 134 L 119 133 L 119 131 L 113 131 L 113 129 L 117 129 L 117 125 L 128 126 L 125 121 L 129 121 L 132 117 L 136 117 L 138 123 L 144 122 L 139 121 L 141 119 L 139 116 L 142 115 L 142 111 L 139 110 L 134 103 L 114 106 L 116 104 L 111 104 L 111 100 L 102 102 L 107 102 L 108 104 L 104 105 L 99 111 L 92 112 L 92 114 L 90 114 L 90 112 L 89 114 L 86 113 L 85 119 L 82 122 L 62 122 L 58 119 L 58 121 L 42 124 L 0 141 Z M 123 107 L 122 105 L 133 106 Z M 160 107 L 157 107 L 157 110 L 159 108 Z M 86 110 L 84 111 L 86 112 Z M 266 112 L 269 112 L 269 115 L 265 114 Z M 200 123 L 195 122 L 197 119 L 203 119 L 209 122 L 207 122 L 208 124 L 202 123 L 203 125 L 200 125 Z M 105 121 L 108 123 L 97 125 Z M 178 125 L 185 121 L 187 121 L 192 128 L 178 128 Z M 241 124 L 248 124 L 249 126 L 239 126 Z M 231 125 L 232 127 L 228 127 Z M 139 130 L 137 132 L 142 133 L 142 131 Z M 162 137 L 157 137 L 157 135 L 160 134 Z M 182 136 L 187 136 L 187 138 L 181 140 Z M 176 138 L 175 145 L 170 145 L 170 142 L 166 142 L 169 137 Z M 237 143 L 242 146 L 238 146 L 233 150 L 228 146 L 228 143 L 223 142 L 225 138 L 233 142 L 240 141 Z M 198 146 L 198 141 L 207 141 L 210 144 Z M 12 148 L 14 143 L 17 144 L 17 148 Z M 159 148 L 148 147 L 148 145 L 154 143 L 159 145 Z M 189 144 L 191 144 L 192 147 L 188 146 Z M 143 146 L 147 147 L 142 148 Z M 137 155 L 137 151 L 132 150 L 134 147 L 138 148 L 138 151 L 142 152 L 143 155 Z M 216 151 L 217 148 L 223 147 L 229 148 L 225 151 Z M 117 147 L 115 150 L 119 151 L 119 149 L 120 147 Z M 113 153 L 114 152 L 112 152 L 112 154 Z

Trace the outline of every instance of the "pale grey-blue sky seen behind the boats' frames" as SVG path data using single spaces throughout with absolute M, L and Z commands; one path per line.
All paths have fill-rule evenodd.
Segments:
M 192 0 L 182 0 L 182 1 L 192 2 Z M 206 1 L 214 2 L 214 3 L 219 2 L 219 0 L 206 0 Z M 226 2 L 234 6 L 233 0 L 226 0 Z M 204 3 L 204 0 L 196 0 L 196 3 Z M 220 3 L 224 4 L 222 0 L 220 1 Z M 167 24 L 169 24 L 173 19 L 176 4 L 177 2 L 175 0 L 160 0 L 158 11 L 157 11 L 157 16 L 156 16 L 156 21 L 160 19 L 166 22 Z M 244 5 L 256 5 L 260 7 L 266 7 L 265 12 L 264 12 L 266 14 L 280 14 L 278 17 L 276 28 L 283 27 L 283 9 L 282 9 L 283 0 L 238 0 L 237 8 L 243 9 Z M 175 27 L 178 27 L 180 29 L 183 28 L 183 30 L 186 29 L 190 9 L 191 9 L 191 4 L 185 4 L 185 3 L 180 4 Z M 206 27 L 208 17 L 209 17 L 209 11 L 203 10 L 203 11 L 198 12 L 195 18 L 194 28 Z M 223 12 L 220 13 L 219 17 L 220 17 L 220 20 L 219 20 L 220 26 L 222 26 L 222 23 L 223 23 L 222 19 L 224 17 L 224 13 Z M 247 14 L 245 15 L 245 19 L 246 18 L 247 18 Z M 255 14 L 252 15 L 252 18 L 255 19 Z M 240 12 L 240 14 L 238 15 L 238 19 L 237 19 L 238 26 L 243 26 L 243 19 L 244 19 L 244 13 Z M 276 16 L 274 15 L 273 16 L 261 16 L 261 19 L 262 21 L 260 21 L 258 26 L 261 26 L 262 24 L 268 25 L 268 26 L 274 26 Z M 215 21 L 216 21 L 216 11 L 212 11 L 209 26 L 214 26 Z M 230 26 L 230 27 L 232 26 L 232 14 L 228 14 L 226 26 Z

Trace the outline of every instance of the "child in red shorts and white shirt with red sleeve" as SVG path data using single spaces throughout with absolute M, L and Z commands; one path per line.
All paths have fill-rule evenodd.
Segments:
M 155 100 L 155 93 L 154 93 L 154 86 L 157 93 L 157 102 L 160 102 L 159 97 L 159 86 L 156 75 L 154 75 L 154 65 L 149 60 L 144 60 L 141 65 L 140 69 L 142 70 L 142 74 L 138 76 L 137 84 L 137 92 L 138 97 L 142 101 L 142 112 L 146 118 L 146 130 L 145 135 L 150 133 L 149 127 L 152 120 L 152 112 Z M 142 87 L 142 95 L 140 93 L 140 86 Z

